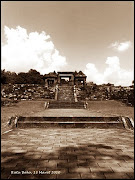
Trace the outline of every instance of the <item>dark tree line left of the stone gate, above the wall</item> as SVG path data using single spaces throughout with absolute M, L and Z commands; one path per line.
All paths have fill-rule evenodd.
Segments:
M 1 83 L 2 84 L 44 84 L 44 76 L 38 71 L 30 69 L 27 73 L 10 72 L 1 70 Z

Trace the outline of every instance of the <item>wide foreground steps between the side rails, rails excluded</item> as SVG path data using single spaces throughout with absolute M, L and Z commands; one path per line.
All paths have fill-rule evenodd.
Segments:
M 19 117 L 18 128 L 124 128 L 119 117 Z

